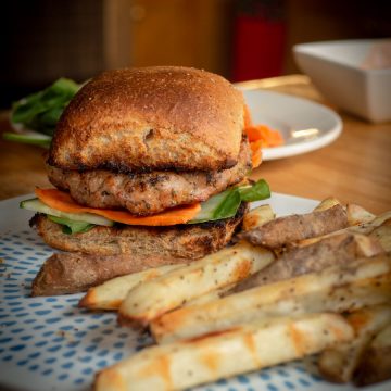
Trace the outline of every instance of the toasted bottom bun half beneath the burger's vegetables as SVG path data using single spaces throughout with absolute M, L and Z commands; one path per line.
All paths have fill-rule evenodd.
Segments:
M 61 225 L 43 214 L 36 214 L 30 224 L 37 227 L 47 244 L 63 251 L 197 260 L 226 245 L 247 211 L 248 204 L 242 203 L 236 216 L 217 222 L 169 227 L 96 226 L 73 235 L 64 234 Z

